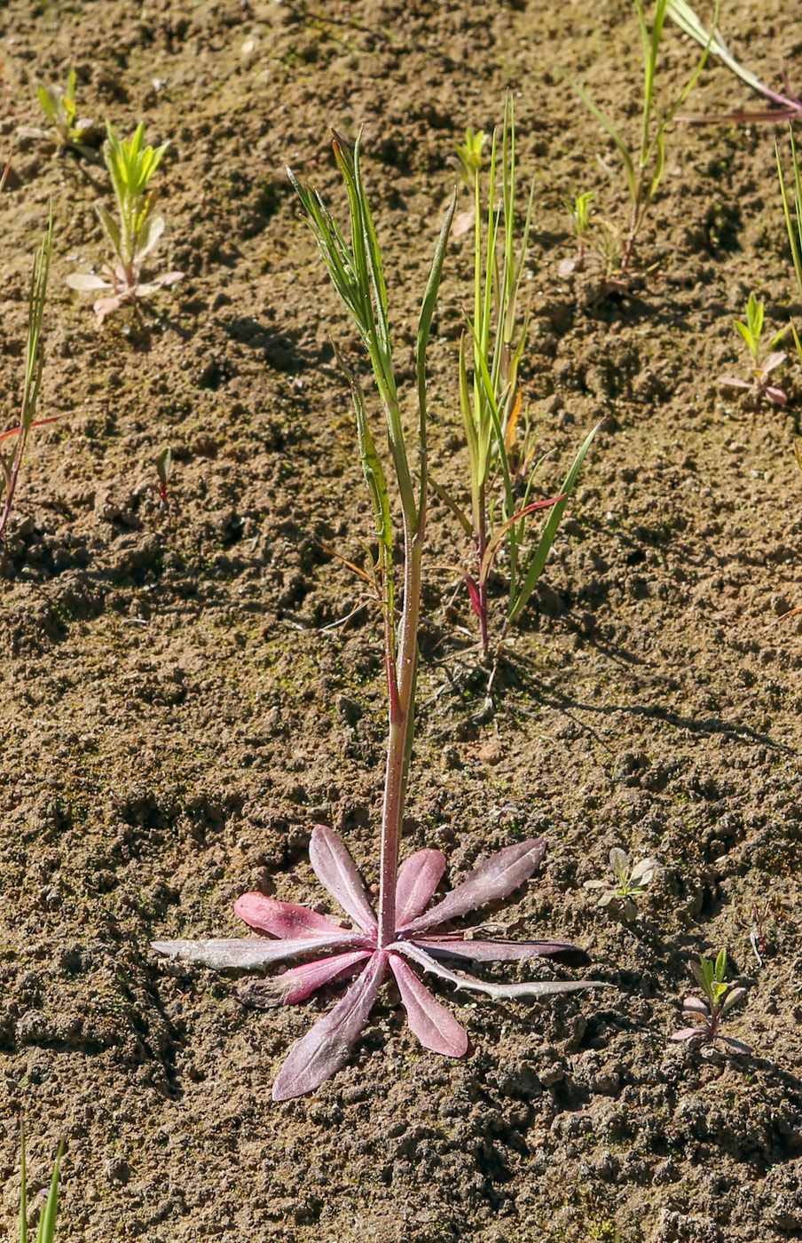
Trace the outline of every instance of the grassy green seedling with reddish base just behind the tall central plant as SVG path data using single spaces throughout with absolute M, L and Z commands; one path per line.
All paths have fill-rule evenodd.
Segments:
M 511 98 L 504 109 L 500 135 L 494 132 L 487 175 L 487 219 L 482 211 L 480 135 L 468 131 L 458 148 L 461 163 L 472 177 L 474 193 L 473 318 L 459 347 L 459 408 L 468 444 L 471 506 L 463 508 L 441 485 L 432 488 L 454 515 L 473 544 L 471 572 L 454 567 L 468 588 L 471 607 L 479 623 L 482 658 L 494 663 L 509 626 L 526 607 L 554 543 L 565 506 L 576 484 L 585 455 L 598 428 L 581 445 L 562 481 L 560 493 L 534 501 L 535 477 L 543 457 L 535 460 L 534 436 L 521 420 L 523 395 L 518 370 L 526 344 L 528 317 L 519 322 L 520 286 L 529 230 L 534 183 L 520 242 L 515 244 L 515 118 Z M 499 184 L 500 183 L 500 184 Z M 500 190 L 500 208 L 495 205 Z M 473 375 L 468 375 L 468 351 Z M 521 438 L 521 424 L 524 435 Z M 529 517 L 551 508 L 540 538 L 529 541 Z M 509 572 L 507 615 L 499 638 L 492 643 L 488 579 L 504 549 Z

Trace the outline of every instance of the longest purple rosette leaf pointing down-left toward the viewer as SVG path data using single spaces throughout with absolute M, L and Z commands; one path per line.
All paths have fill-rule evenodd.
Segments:
M 380 950 L 334 1009 L 293 1044 L 273 1084 L 273 1100 L 291 1100 L 314 1091 L 345 1065 L 365 1030 L 386 970 L 387 953 Z

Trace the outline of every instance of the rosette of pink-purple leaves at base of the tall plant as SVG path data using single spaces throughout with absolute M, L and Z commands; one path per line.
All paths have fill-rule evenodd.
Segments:
M 446 858 L 441 850 L 418 850 L 399 871 L 395 936 L 381 945 L 376 915 L 349 850 L 338 833 L 319 824 L 312 834 L 309 861 L 320 884 L 353 920 L 351 927 L 340 927 L 307 906 L 255 892 L 238 897 L 235 911 L 263 936 L 155 941 L 153 948 L 209 967 L 240 970 L 309 958 L 246 989 L 242 999 L 257 1006 L 289 1006 L 304 1001 L 324 984 L 356 976 L 334 1008 L 293 1045 L 273 1084 L 273 1100 L 314 1091 L 345 1064 L 390 975 L 397 984 L 407 1023 L 421 1044 L 435 1053 L 461 1058 L 468 1052 L 468 1033 L 413 968 L 457 988 L 499 999 L 610 987 L 586 979 L 490 983 L 452 971 L 442 961 L 513 962 L 544 955 L 586 961 L 582 950 L 564 941 L 482 940 L 466 932 L 437 931 L 478 906 L 511 894 L 533 875 L 545 849 L 543 838 L 534 838 L 499 850 L 431 907 L 446 871 Z

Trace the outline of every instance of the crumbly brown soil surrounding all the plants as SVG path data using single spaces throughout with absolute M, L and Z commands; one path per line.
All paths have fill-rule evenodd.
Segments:
M 724 25 L 767 81 L 785 60 L 798 86 L 792 9 L 737 0 Z M 750 290 L 785 322 L 782 133 L 675 124 L 641 249 L 657 270 L 631 297 L 592 272 L 561 281 L 564 198 L 595 188 L 610 215 L 621 198 L 597 162 L 615 167 L 615 150 L 556 67 L 637 129 L 633 11 L 590 12 L 543 0 L 2 11 L 6 144 L 41 123 L 34 80 L 74 66 L 82 112 L 122 132 L 142 118 L 149 140 L 170 140 L 154 259 L 187 273 L 143 323 L 119 314 L 98 331 L 65 277 L 102 257 L 102 168 L 20 145 L 0 201 L 6 420 L 51 196 L 40 413 L 68 418 L 32 436 L 0 554 L 9 1232 L 25 1116 L 35 1188 L 68 1139 L 65 1241 L 802 1238 L 802 628 L 776 623 L 802 603 L 802 384 L 788 372 L 786 411 L 716 385 L 742 365 L 731 319 Z M 693 51 L 673 30 L 665 48 L 677 82 Z M 329 334 L 361 359 L 283 169 L 341 204 L 328 127 L 365 123 L 401 358 L 453 144 L 492 128 L 507 86 L 538 177 L 524 377 L 554 451 L 545 491 L 608 421 L 489 720 L 467 602 L 433 568 L 467 548 L 432 511 L 405 851 L 443 846 L 454 879 L 543 833 L 546 866 L 495 917 L 586 945 L 617 987 L 505 1008 L 457 994 L 473 1042 L 457 1063 L 421 1050 L 385 989 L 346 1069 L 279 1106 L 272 1078 L 331 998 L 247 1011 L 231 977 L 165 963 L 149 942 L 241 935 L 232 900 L 246 889 L 320 902 L 317 820 L 376 879 L 376 618 L 354 612 L 360 583 L 318 543 L 359 558 L 370 531 Z M 694 111 L 751 102 L 713 67 Z M 469 250 L 469 234 L 451 244 L 430 352 L 436 470 L 456 487 Z M 164 445 L 173 508 L 154 527 Z M 632 929 L 583 889 L 616 844 L 662 865 Z M 755 902 L 771 904 L 762 970 Z M 749 987 L 730 1030 L 752 1058 L 668 1039 L 689 961 L 723 946 Z

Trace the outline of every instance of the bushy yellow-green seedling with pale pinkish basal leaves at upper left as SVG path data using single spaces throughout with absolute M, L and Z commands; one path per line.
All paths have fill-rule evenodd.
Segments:
M 145 298 L 165 285 L 182 280 L 184 272 L 164 272 L 150 281 L 142 280 L 143 260 L 150 254 L 164 232 L 164 216 L 155 215 L 158 190 L 148 189 L 168 144 L 144 147 L 144 122 L 134 131 L 133 138 L 118 139 L 107 124 L 108 139 L 103 148 L 106 165 L 112 178 L 119 220 L 102 204 L 96 204 L 98 219 L 113 251 L 113 262 L 104 264 L 102 276 L 73 272 L 67 285 L 82 292 L 110 290 L 94 302 L 101 321 L 124 302 Z

